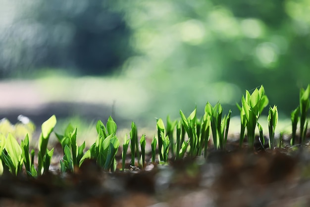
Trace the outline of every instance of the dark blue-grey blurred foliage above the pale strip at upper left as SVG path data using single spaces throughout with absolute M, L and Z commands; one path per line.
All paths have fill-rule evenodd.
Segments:
M 108 0 L 4 0 L 0 78 L 40 67 L 110 73 L 131 55 L 130 29 Z M 2 4 L 2 3 L 1 3 Z M 3 18 L 4 17 L 4 18 Z

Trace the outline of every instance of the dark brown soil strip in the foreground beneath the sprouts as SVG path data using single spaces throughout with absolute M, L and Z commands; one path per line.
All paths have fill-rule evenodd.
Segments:
M 308 207 L 310 151 L 210 151 L 167 165 L 104 172 L 87 160 L 75 173 L 0 177 L 0 206 L 23 207 Z M 130 160 L 128 160 L 130 161 Z

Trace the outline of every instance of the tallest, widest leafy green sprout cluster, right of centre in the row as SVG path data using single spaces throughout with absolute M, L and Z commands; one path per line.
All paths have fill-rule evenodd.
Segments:
M 248 142 L 251 149 L 253 149 L 254 146 L 255 128 L 258 117 L 267 104 L 268 98 L 264 95 L 263 86 L 260 86 L 259 90 L 255 89 L 252 94 L 246 91 L 246 96 L 242 96 L 242 110 L 247 119 Z

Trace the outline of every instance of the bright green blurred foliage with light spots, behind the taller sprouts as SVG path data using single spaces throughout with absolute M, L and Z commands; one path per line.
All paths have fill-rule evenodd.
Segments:
M 289 114 L 309 83 L 308 0 L 133 0 L 118 6 L 134 31 L 132 46 L 144 54 L 129 58 L 124 73 L 147 78 L 157 106 L 234 105 L 246 89 L 262 84 L 270 105 Z

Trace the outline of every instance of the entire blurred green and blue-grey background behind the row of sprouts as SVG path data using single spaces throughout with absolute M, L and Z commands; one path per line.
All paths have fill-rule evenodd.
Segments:
M 1 0 L 0 115 L 155 127 L 207 102 L 238 116 L 263 85 L 289 117 L 310 82 L 309 11 L 309 0 Z

